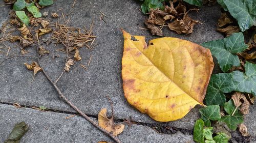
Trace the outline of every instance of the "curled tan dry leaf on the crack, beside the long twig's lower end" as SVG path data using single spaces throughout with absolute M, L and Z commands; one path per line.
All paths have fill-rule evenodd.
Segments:
M 99 111 L 98 122 L 100 127 L 109 132 L 112 132 L 115 136 L 123 132 L 123 124 L 115 124 L 113 116 L 110 119 L 106 117 L 106 108 L 103 108 Z

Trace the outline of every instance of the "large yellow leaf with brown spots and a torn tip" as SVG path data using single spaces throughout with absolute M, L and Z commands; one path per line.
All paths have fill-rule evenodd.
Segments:
M 123 31 L 122 79 L 127 101 L 160 122 L 203 105 L 214 63 L 209 49 L 178 38 L 153 39 Z

